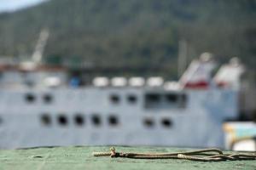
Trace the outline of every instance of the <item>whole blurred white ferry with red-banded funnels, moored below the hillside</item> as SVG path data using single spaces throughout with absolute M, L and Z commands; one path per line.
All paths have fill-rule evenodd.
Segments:
M 79 86 L 64 67 L 1 65 L 0 148 L 224 148 L 223 123 L 239 117 L 244 68 L 233 60 L 212 77 L 215 67 L 211 55 L 202 54 L 177 82 L 161 77 L 94 77 Z

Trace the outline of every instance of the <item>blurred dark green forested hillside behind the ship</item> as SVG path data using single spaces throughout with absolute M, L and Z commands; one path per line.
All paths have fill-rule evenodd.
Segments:
M 178 41 L 189 59 L 256 65 L 255 0 L 50 0 L 0 14 L 0 55 L 32 54 L 49 28 L 45 59 L 82 57 L 95 65 L 160 65 L 177 69 Z

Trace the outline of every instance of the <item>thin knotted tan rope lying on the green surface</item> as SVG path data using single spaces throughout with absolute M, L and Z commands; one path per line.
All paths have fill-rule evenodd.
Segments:
M 93 156 L 110 156 L 133 159 L 183 159 L 190 161 L 238 161 L 256 160 L 256 154 L 224 154 L 222 150 L 205 149 L 172 153 L 122 153 L 116 152 L 115 148 L 110 148 L 110 152 L 93 152 Z

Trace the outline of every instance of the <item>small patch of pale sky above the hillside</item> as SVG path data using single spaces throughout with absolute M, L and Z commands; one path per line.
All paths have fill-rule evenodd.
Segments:
M 0 12 L 12 12 L 20 8 L 26 8 L 44 0 L 0 0 Z

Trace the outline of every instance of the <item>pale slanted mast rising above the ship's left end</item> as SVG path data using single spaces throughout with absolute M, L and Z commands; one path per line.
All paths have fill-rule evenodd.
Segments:
M 36 45 L 36 48 L 34 50 L 34 53 L 32 54 L 32 61 L 36 64 L 41 63 L 42 57 L 44 54 L 44 48 L 46 45 L 46 42 L 49 38 L 49 30 L 44 28 L 39 35 L 38 43 Z

